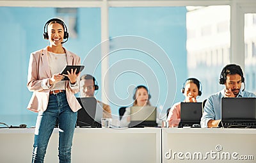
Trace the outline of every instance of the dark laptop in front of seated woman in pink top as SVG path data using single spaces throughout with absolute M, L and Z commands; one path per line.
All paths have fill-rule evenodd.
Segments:
M 181 102 L 178 127 L 200 127 L 202 102 Z

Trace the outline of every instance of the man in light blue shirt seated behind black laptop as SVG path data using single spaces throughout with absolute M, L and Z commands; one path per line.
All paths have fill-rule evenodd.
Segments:
M 225 88 L 211 95 L 204 106 L 204 113 L 201 118 L 201 127 L 218 127 L 221 121 L 221 98 L 223 97 L 256 97 L 254 93 L 241 90 L 244 83 L 243 70 L 239 65 L 226 65 L 220 76 L 220 84 Z

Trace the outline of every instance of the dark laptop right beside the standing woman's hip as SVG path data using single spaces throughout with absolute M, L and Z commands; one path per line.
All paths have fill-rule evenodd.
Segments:
M 101 127 L 101 124 L 95 121 L 97 100 L 94 97 L 77 97 L 81 109 L 77 111 L 77 127 Z

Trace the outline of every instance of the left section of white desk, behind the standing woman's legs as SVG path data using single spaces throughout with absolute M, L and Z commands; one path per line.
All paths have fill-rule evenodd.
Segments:
M 33 128 L 0 129 L 0 162 L 31 162 Z M 58 128 L 51 136 L 45 163 L 58 162 Z M 72 163 L 161 162 L 161 128 L 76 128 Z

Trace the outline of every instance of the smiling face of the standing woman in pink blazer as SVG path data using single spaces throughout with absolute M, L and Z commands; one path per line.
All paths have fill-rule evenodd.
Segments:
M 58 22 L 51 22 L 47 27 L 49 41 L 53 46 L 61 45 L 64 37 L 64 28 Z

